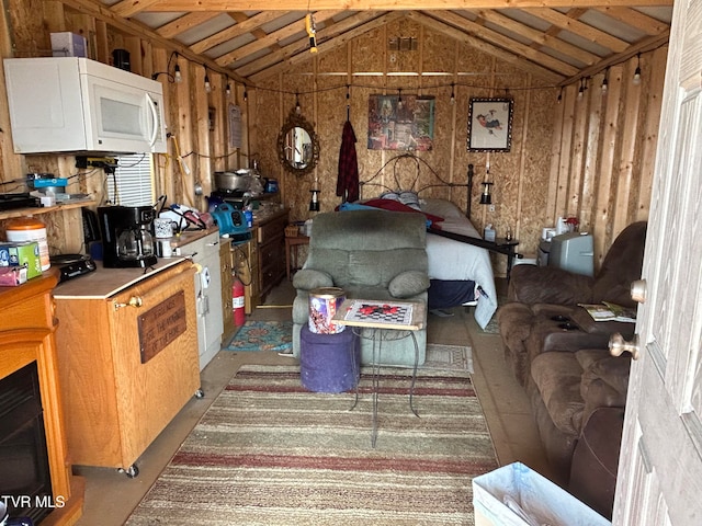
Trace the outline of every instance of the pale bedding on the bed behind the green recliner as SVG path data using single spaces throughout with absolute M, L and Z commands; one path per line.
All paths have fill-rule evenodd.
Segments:
M 439 225 L 444 231 L 480 238 L 477 230 L 453 203 L 444 199 L 422 199 L 421 209 L 443 217 Z M 472 279 L 482 289 L 475 308 L 475 321 L 485 329 L 497 310 L 495 276 L 487 249 L 453 239 L 427 233 L 427 255 L 431 279 Z

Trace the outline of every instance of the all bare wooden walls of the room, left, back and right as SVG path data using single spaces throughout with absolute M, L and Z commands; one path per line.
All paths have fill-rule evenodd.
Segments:
M 165 71 L 172 50 L 148 35 L 136 35 L 115 27 L 99 15 L 81 14 L 58 1 L 8 0 L 0 45 L 2 56 L 47 55 L 49 33 L 72 31 L 86 35 L 94 58 L 110 62 L 111 52 L 124 47 L 131 52 L 133 71 L 150 77 Z M 9 14 L 7 14 L 9 13 Z M 167 124 L 173 138 L 169 153 L 156 156 L 157 193 L 169 202 L 205 209 L 206 201 L 195 195 L 199 183 L 204 195 L 212 188 L 212 172 L 234 170 L 260 161 L 264 176 L 280 181 L 283 203 L 291 217 L 310 217 L 309 191 L 319 188 L 321 210 L 333 209 L 341 133 L 347 118 L 358 137 L 356 152 L 362 179 L 370 179 L 397 151 L 369 150 L 367 105 L 372 94 L 433 95 L 435 98 L 434 148 L 419 156 L 446 181 L 465 182 L 467 165 L 475 165 L 472 219 L 478 230 L 492 224 L 498 236 L 509 228 L 520 239 L 520 252 L 535 254 L 545 226 L 554 226 L 559 216 L 576 216 L 582 229 L 596 238 L 598 260 L 621 229 L 648 213 L 650 181 L 660 118 L 660 94 L 666 49 L 641 56 L 642 83 L 633 87 L 636 57 L 608 71 L 609 90 L 602 95 L 602 73 L 587 79 L 588 90 L 578 99 L 579 83 L 559 90 L 552 80 L 534 77 L 513 64 L 507 64 L 463 41 L 440 34 L 412 19 L 396 16 L 362 36 L 350 39 L 328 53 L 309 55 L 288 68 L 279 68 L 267 78 L 254 78 L 258 88 L 245 87 L 219 72 L 208 70 L 212 93 L 204 91 L 202 64 L 178 57 L 183 82 L 163 83 L 168 106 Z M 416 38 L 412 52 L 388 50 L 392 37 Z M 170 68 L 172 70 L 173 64 Z M 2 72 L 0 71 L 0 76 Z M 230 98 L 225 87 L 233 88 Z M 454 83 L 455 104 L 450 103 Z M 347 85 L 349 99 L 347 99 Z M 4 90 L 4 82 L 0 90 Z M 245 92 L 248 96 L 245 100 Z M 561 103 L 557 102 L 562 93 Z M 468 100 L 472 96 L 511 96 L 514 118 L 510 152 L 469 152 L 466 150 Z M 276 140 L 290 110 L 299 100 L 303 116 L 314 123 L 320 140 L 317 169 L 303 178 L 285 172 L 279 160 Z M 241 149 L 227 146 L 227 106 L 238 104 L 244 115 L 245 142 Z M 7 100 L 0 96 L 0 182 L 33 171 L 59 176 L 75 175 L 71 156 L 16 156 L 12 152 Z M 214 113 L 211 113 L 212 110 Z M 210 129 L 214 115 L 214 129 Z M 490 163 L 495 211 L 478 204 Z M 403 168 L 410 173 L 414 168 Z M 408 176 L 408 175 L 406 175 Z M 381 180 L 390 186 L 392 173 Z M 71 192 L 90 193 L 103 199 L 105 175 L 101 171 L 71 179 Z M 4 191 L 11 191 L 4 187 Z M 366 192 L 364 197 L 370 197 Z M 449 197 L 462 209 L 467 196 L 463 188 L 433 195 Z M 49 222 L 52 220 L 49 219 Z M 55 221 L 53 252 L 60 252 L 65 239 L 61 221 Z M 75 248 L 73 248 L 75 249 Z M 497 274 L 503 274 L 505 258 L 495 259 Z

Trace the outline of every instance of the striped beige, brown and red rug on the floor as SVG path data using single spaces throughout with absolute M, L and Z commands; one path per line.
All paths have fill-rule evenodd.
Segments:
M 467 371 L 381 369 L 354 393 L 306 391 L 298 366 L 242 366 L 128 522 L 473 525 L 474 477 L 497 468 Z

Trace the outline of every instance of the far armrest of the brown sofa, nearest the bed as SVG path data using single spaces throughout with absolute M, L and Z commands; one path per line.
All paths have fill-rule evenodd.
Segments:
M 550 266 L 517 265 L 509 281 L 508 300 L 523 304 L 591 302 L 595 278 Z

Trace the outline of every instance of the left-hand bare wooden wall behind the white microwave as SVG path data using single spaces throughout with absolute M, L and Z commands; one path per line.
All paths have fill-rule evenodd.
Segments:
M 173 55 L 172 48 L 159 45 L 161 43 L 150 35 L 135 34 L 129 26 L 110 24 L 97 14 L 79 13 L 59 1 L 8 0 L 5 4 L 0 41 L 3 58 L 50 56 L 50 33 L 70 31 L 86 36 L 89 57 L 105 64 L 112 64 L 113 49 L 127 49 L 132 72 L 144 77 L 151 78 L 154 73 L 167 69 L 172 75 L 176 64 L 179 65 L 182 82 L 173 82 L 168 75 L 157 77 L 163 85 L 167 133 L 171 135 L 168 153 L 155 156 L 157 196 L 166 194 L 169 203 L 206 210 L 205 196 L 212 190 L 212 173 L 248 165 L 246 129 L 241 148 L 230 148 L 227 140 L 229 104 L 241 107 L 244 126 L 248 119 L 242 83 L 208 68 L 206 75 L 212 91 L 207 93 L 203 62 L 188 59 L 182 54 Z M 103 170 L 78 170 L 73 156 L 19 156 L 13 152 L 1 68 L 0 80 L 0 183 L 20 180 L 16 184 L 3 184 L 0 192 L 26 192 L 26 185 L 22 183 L 25 174 L 46 172 L 70 178 L 67 192 L 91 195 L 95 202 L 93 208 L 102 204 L 106 198 L 109 180 Z M 226 95 L 227 84 L 231 89 L 229 96 Z M 214 117 L 212 123 L 211 116 Z M 196 195 L 197 185 L 203 188 L 202 195 Z M 80 252 L 84 249 L 80 210 L 45 214 L 42 220 L 47 224 L 52 253 Z

